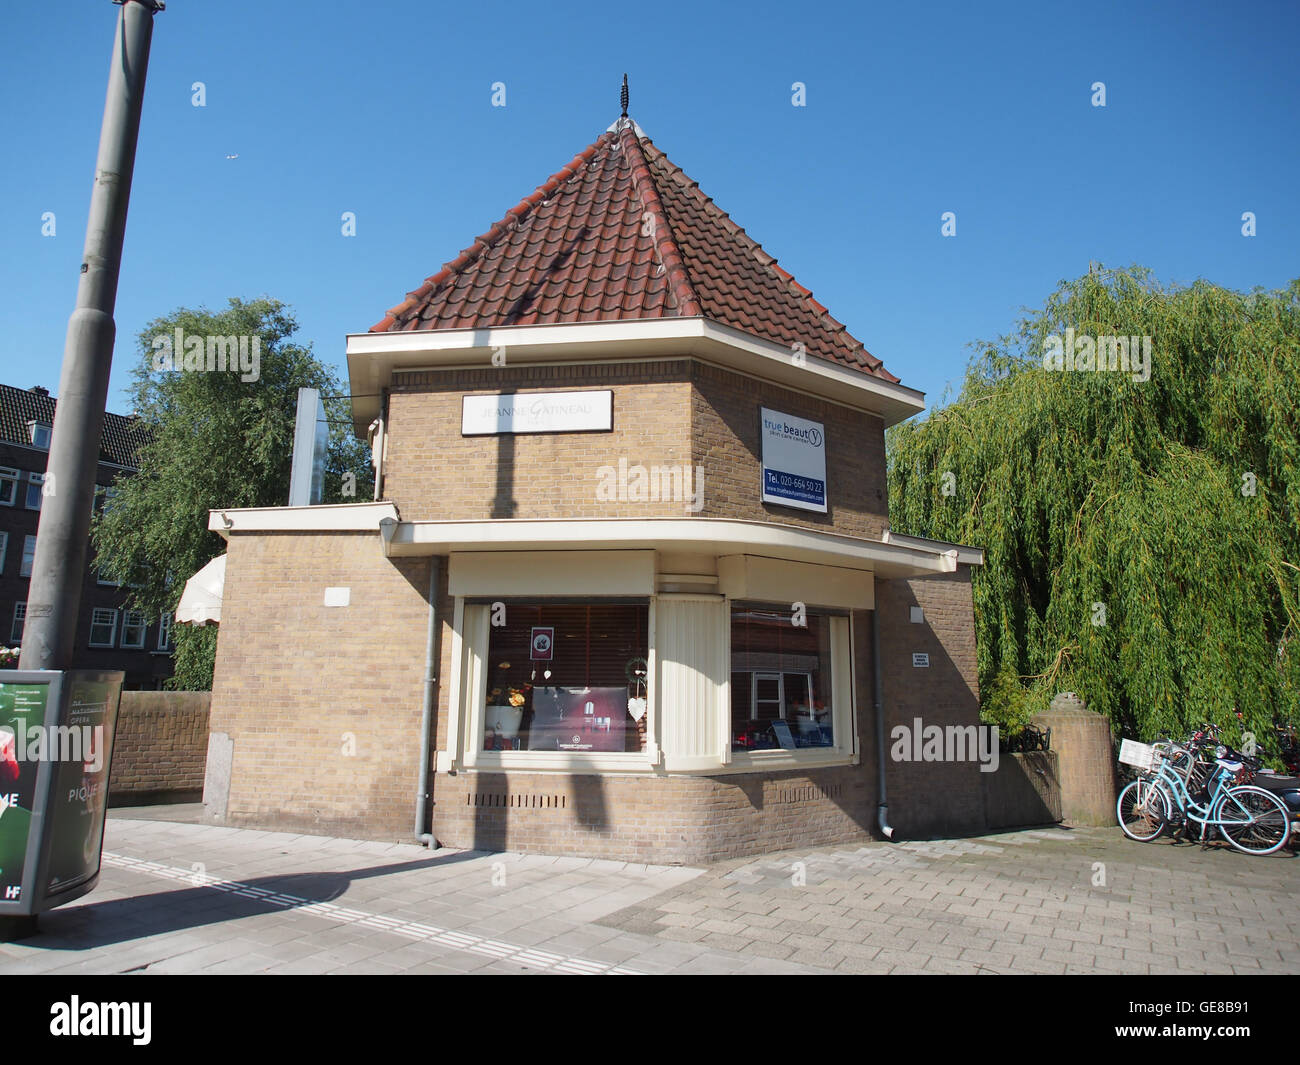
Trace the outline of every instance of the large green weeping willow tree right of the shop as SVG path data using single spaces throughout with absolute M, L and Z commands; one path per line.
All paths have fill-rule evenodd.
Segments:
M 1300 281 L 1062 282 L 888 459 L 900 532 L 984 547 L 987 719 L 1074 690 L 1139 739 L 1296 720 Z

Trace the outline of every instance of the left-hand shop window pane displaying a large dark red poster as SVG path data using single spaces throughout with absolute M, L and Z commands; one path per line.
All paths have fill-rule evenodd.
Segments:
M 508 602 L 491 622 L 484 750 L 645 750 L 646 603 Z

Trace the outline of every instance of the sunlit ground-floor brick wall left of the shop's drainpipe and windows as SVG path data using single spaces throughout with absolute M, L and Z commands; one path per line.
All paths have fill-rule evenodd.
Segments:
M 207 819 L 410 837 L 429 559 L 386 559 L 374 532 L 234 534 L 228 554 L 211 731 L 233 771 Z

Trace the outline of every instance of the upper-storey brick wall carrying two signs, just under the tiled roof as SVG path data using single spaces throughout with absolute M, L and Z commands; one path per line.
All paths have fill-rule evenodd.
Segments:
M 614 430 L 462 437 L 462 397 L 610 389 Z M 759 407 L 826 425 L 828 514 L 759 502 Z M 489 518 L 736 518 L 879 538 L 884 429 L 871 415 L 690 360 L 398 373 L 389 398 L 384 497 L 404 521 Z M 597 498 L 597 471 L 703 468 L 689 501 Z

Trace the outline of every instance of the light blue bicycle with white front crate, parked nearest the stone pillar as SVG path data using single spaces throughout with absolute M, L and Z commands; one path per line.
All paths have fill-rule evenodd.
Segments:
M 1265 788 L 1238 783 L 1248 779 L 1252 775 L 1248 767 L 1252 763 L 1257 767 L 1258 762 L 1223 745 L 1214 748 L 1213 762 L 1202 757 L 1217 732 L 1213 727 L 1201 730 L 1187 746 L 1124 741 L 1130 758 L 1145 761 L 1145 772 L 1127 784 L 1115 801 L 1115 817 L 1126 836 L 1150 843 L 1171 824 L 1182 831 L 1196 823 L 1201 826 L 1202 843 L 1206 831 L 1217 827 L 1228 844 L 1247 854 L 1271 854 L 1286 844 L 1291 834 L 1286 804 Z M 1121 758 L 1127 761 L 1123 750 Z M 1141 765 L 1141 761 L 1128 763 Z M 1204 787 L 1197 780 L 1199 766 L 1212 766 Z M 1204 801 L 1197 801 L 1199 796 Z

